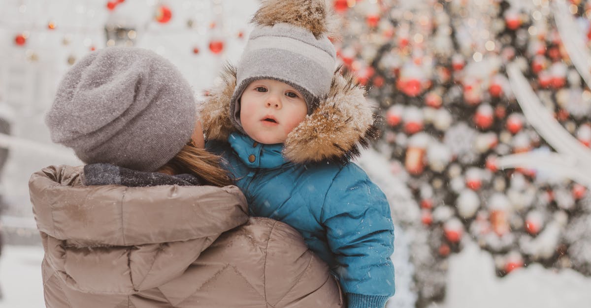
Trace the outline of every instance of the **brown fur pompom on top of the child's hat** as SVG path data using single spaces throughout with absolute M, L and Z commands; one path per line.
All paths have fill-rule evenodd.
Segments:
M 251 22 L 268 26 L 285 22 L 309 30 L 316 38 L 335 37 L 339 27 L 327 0 L 262 0 Z

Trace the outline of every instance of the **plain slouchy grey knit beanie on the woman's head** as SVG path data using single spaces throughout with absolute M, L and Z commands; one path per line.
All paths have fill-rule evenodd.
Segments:
M 196 116 L 193 91 L 170 61 L 109 47 L 66 73 L 46 124 L 85 163 L 155 171 L 189 142 Z

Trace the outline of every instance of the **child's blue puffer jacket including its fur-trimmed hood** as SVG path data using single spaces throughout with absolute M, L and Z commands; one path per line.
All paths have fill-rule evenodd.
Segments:
M 207 148 L 228 160 L 251 214 L 286 222 L 339 277 L 348 307 L 384 307 L 394 294 L 394 227 L 385 195 L 350 157 L 371 133 L 363 91 L 342 76 L 284 144 L 262 145 L 229 122 L 235 71 L 202 110 Z

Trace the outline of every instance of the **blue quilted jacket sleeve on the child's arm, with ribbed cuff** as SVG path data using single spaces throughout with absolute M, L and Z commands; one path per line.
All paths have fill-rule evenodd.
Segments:
M 333 179 L 321 219 L 349 307 L 384 307 L 394 295 L 394 226 L 384 193 L 350 163 Z

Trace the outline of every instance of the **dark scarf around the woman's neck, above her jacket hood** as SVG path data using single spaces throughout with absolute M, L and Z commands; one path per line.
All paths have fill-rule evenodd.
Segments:
M 127 169 L 110 163 L 92 163 L 84 166 L 84 185 L 123 185 L 128 187 L 158 185 L 201 185 L 190 174 L 167 175 L 160 172 L 143 172 Z

